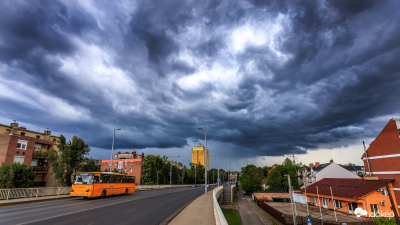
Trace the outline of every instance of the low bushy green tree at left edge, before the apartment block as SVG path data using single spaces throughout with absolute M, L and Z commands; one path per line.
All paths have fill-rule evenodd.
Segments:
M 0 166 L 0 188 L 26 188 L 35 177 L 33 168 L 25 163 L 5 162 Z

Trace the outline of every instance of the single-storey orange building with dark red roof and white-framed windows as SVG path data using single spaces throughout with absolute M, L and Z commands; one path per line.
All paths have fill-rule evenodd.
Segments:
M 393 179 L 364 180 L 363 178 L 323 178 L 302 189 L 307 202 L 321 208 L 336 209 L 343 213 L 354 213 L 356 208 L 367 211 L 363 217 L 373 217 L 371 212 L 393 212 L 385 184 L 391 193 Z M 332 199 L 333 195 L 333 199 Z M 393 198 L 397 205 L 396 199 Z

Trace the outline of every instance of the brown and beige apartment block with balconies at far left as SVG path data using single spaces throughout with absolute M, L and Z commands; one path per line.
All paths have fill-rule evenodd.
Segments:
M 58 136 L 48 129 L 32 131 L 19 126 L 16 121 L 10 125 L 0 124 L 0 162 L 24 162 L 33 167 L 35 179 L 31 186 L 57 186 L 50 175 L 50 166 L 44 152 L 54 148 Z

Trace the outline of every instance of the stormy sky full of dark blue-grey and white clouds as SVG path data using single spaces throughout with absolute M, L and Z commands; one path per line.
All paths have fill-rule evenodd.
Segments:
M 400 117 L 398 0 L 2 0 L 0 123 L 219 166 L 361 164 Z M 275 156 L 276 155 L 276 156 Z M 188 164 L 188 161 L 184 162 Z M 216 167 L 216 157 L 210 158 Z

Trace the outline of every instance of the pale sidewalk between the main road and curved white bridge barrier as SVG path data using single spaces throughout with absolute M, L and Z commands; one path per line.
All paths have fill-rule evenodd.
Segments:
M 215 224 L 212 190 L 194 199 L 169 224 L 188 223 Z

